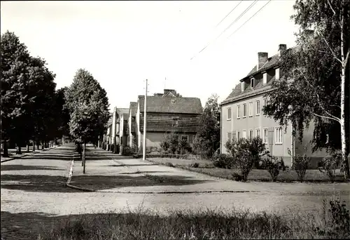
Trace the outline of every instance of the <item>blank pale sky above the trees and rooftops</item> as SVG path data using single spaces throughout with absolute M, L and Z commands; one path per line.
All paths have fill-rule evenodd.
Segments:
M 213 93 L 225 100 L 258 52 L 295 45 L 295 1 L 267 2 L 1 1 L 1 34 L 14 32 L 44 58 L 57 88 L 70 86 L 78 69 L 89 71 L 111 109 L 136 102 L 146 79 L 148 95 L 170 88 L 204 106 Z

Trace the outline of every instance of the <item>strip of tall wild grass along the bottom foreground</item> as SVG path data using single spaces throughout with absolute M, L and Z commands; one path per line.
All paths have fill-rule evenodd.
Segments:
M 349 213 L 348 213 L 349 215 Z M 349 223 L 348 223 L 349 224 Z M 55 227 L 43 229 L 38 239 L 346 239 L 346 226 L 335 229 L 332 215 L 288 217 L 248 211 L 129 211 L 71 215 Z

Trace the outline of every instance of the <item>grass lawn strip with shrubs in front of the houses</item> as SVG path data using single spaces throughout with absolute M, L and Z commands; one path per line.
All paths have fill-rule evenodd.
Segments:
M 211 175 L 217 178 L 225 178 L 233 180 L 232 173 L 239 173 L 237 169 L 225 169 L 225 168 L 216 168 L 209 160 L 204 159 L 168 159 L 168 158 L 153 158 L 147 159 L 152 161 L 155 164 L 174 165 L 176 168 L 183 168 L 188 171 L 194 171 L 197 173 L 204 173 Z M 200 166 L 198 168 L 193 168 L 190 164 L 198 163 Z M 267 170 L 262 169 L 253 169 L 248 175 L 248 180 L 251 181 L 272 181 L 271 175 Z M 280 171 L 277 178 L 279 182 L 293 182 L 297 181 L 297 173 L 293 170 Z M 309 169 L 306 171 L 305 182 L 329 182 L 329 178 L 324 173 L 321 173 L 317 169 Z M 336 182 L 344 182 L 344 175 L 337 171 L 336 173 Z

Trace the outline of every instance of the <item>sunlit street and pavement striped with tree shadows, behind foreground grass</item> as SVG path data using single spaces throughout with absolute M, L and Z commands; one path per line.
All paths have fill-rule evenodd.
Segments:
M 167 209 L 251 208 L 253 211 L 315 211 L 323 197 L 339 194 L 350 204 L 349 184 L 232 182 L 155 166 L 89 147 L 86 174 L 74 162 L 71 185 L 99 190 L 82 192 L 65 186 L 73 145 L 1 164 L 1 236 L 33 239 L 42 226 L 69 214 L 108 213 L 141 204 L 166 213 Z M 193 191 L 214 193 L 167 193 Z M 235 192 L 239 191 L 239 192 Z M 251 191 L 251 192 L 241 192 Z M 120 193 L 134 192 L 134 193 Z M 143 192 L 143 193 L 137 193 Z M 145 193 L 149 192 L 149 193 Z M 162 192 L 154 194 L 153 192 Z

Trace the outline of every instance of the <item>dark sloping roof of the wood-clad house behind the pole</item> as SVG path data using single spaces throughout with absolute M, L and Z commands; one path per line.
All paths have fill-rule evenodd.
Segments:
M 144 112 L 144 95 L 139 95 L 140 112 Z M 147 96 L 147 112 L 202 114 L 200 98 Z

